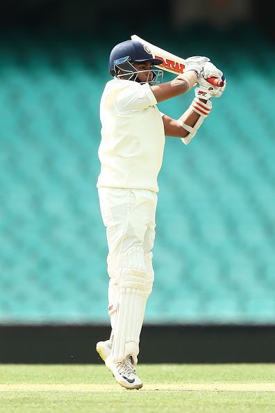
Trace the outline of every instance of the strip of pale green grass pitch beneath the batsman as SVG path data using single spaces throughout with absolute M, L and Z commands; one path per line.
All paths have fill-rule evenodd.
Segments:
M 140 390 L 104 365 L 0 365 L 1 413 L 275 412 L 275 364 L 139 365 Z

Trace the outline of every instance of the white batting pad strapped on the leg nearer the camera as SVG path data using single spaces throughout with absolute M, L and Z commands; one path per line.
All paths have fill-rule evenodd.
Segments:
M 127 355 L 133 357 L 134 364 L 138 362 L 140 331 L 147 298 L 153 285 L 153 271 L 147 273 L 148 267 L 151 268 L 148 262 L 145 264 L 144 250 L 141 247 L 130 248 L 122 260 L 110 355 L 113 362 L 122 362 Z

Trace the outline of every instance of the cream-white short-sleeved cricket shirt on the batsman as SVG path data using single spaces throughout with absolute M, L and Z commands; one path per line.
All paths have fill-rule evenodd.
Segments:
M 100 104 L 102 124 L 97 187 L 142 188 L 158 192 L 163 163 L 163 113 L 148 83 L 113 79 Z

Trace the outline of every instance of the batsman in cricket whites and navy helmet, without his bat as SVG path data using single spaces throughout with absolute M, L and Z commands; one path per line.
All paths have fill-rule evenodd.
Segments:
M 110 339 L 97 352 L 126 389 L 140 389 L 135 372 L 140 331 L 154 279 L 151 252 L 155 238 L 158 172 L 165 136 L 190 143 L 212 109 L 211 97 L 224 92 L 206 81 L 222 72 L 203 56 L 186 60 L 185 72 L 161 83 L 162 60 L 136 40 L 117 44 L 110 53 L 108 81 L 100 104 L 101 172 L 99 203 L 108 242 L 108 314 Z M 194 89 L 194 99 L 179 119 L 158 110 L 158 102 Z M 203 96 L 203 99 L 201 99 Z M 168 268 L 167 268 L 168 270 Z

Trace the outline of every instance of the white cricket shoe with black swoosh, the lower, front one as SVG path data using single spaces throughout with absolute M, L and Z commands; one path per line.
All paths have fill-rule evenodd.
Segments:
M 123 362 L 114 363 L 110 357 L 106 359 L 106 367 L 113 373 L 115 380 L 126 389 L 140 389 L 143 386 L 142 381 L 135 373 L 135 368 L 131 363 L 131 356 L 128 355 Z

